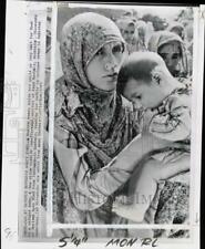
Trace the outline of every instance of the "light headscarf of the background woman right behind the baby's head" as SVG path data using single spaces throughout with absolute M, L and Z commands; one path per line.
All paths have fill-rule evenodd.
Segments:
M 186 49 L 183 40 L 177 34 L 170 31 L 154 32 L 148 41 L 148 50 L 158 53 L 158 49 L 162 45 L 168 44 L 174 41 L 178 42 L 182 52 L 182 66 L 180 74 L 186 77 L 188 74 Z

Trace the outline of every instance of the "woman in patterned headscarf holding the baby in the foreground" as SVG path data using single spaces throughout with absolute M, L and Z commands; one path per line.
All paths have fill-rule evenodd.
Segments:
M 126 224 L 112 212 L 116 193 L 123 190 L 144 155 L 167 146 L 147 135 L 143 141 L 147 145 L 152 141 L 150 146 L 142 151 L 142 139 L 134 139 L 133 157 L 112 160 L 139 133 L 131 103 L 115 91 L 124 45 L 115 23 L 96 13 L 78 14 L 63 27 L 60 50 L 64 75 L 55 83 L 54 104 L 54 222 Z M 42 206 L 45 208 L 47 139 L 45 132 L 42 181 Z M 62 232 L 71 235 L 73 231 L 90 238 L 124 237 L 127 232 L 106 228 Z

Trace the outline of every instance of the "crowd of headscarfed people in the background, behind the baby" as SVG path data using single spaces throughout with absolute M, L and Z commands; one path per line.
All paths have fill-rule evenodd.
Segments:
M 173 21 L 165 30 L 154 31 L 152 22 L 122 15 L 116 24 L 126 41 L 127 52 L 153 51 L 158 53 L 174 76 L 192 77 L 193 22 Z

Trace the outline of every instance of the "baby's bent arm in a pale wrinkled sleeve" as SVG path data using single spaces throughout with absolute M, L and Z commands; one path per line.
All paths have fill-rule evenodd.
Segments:
M 186 96 L 171 96 L 166 113 L 153 117 L 150 132 L 163 139 L 183 141 L 191 135 L 191 111 Z

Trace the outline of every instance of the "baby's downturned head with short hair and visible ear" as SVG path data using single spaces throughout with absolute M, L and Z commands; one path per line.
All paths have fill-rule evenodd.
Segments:
M 153 52 L 134 52 L 123 63 L 117 92 L 137 107 L 154 108 L 168 95 L 170 74 L 163 59 Z

